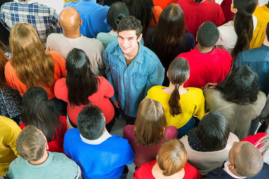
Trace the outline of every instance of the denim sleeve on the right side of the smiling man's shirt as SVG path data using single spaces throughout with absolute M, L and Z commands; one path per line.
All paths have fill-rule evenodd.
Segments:
M 148 80 L 144 92 L 143 99 L 147 96 L 148 90 L 157 85 L 162 85 L 164 81 L 164 67 L 162 66 L 161 62 L 157 62 L 155 67 L 148 73 Z

